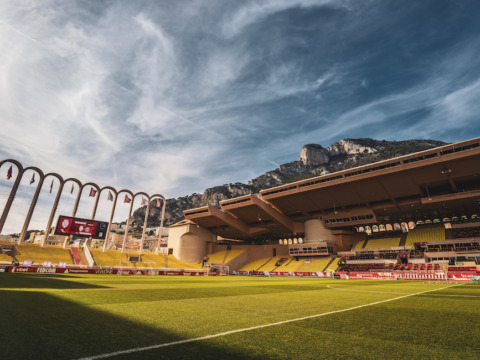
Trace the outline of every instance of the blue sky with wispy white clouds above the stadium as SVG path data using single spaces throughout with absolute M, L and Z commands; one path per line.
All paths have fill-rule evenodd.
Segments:
M 247 182 L 307 143 L 477 137 L 479 13 L 454 0 L 2 1 L 0 158 L 176 197 Z

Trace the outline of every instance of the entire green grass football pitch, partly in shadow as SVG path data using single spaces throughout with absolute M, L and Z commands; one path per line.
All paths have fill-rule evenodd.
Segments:
M 479 359 L 480 286 L 0 273 L 1 359 Z

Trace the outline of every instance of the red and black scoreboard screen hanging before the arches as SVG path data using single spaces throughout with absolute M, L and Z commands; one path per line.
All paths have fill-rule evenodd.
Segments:
M 92 237 L 94 239 L 105 239 L 107 235 L 108 222 L 88 219 L 74 218 L 60 215 L 55 235 L 73 235 L 80 237 Z

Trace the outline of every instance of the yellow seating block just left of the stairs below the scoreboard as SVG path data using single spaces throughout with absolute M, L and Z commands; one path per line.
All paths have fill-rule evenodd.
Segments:
M 65 262 L 67 265 L 73 265 L 70 251 L 61 246 L 47 245 L 41 247 L 36 244 L 23 244 L 16 245 L 16 247 L 19 251 L 16 258 L 20 263 L 33 261 L 34 264 L 42 265 L 44 261 L 51 261 L 52 264 Z

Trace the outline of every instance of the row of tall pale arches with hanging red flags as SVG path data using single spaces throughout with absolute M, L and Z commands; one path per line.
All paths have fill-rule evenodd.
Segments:
M 48 239 L 48 234 L 50 233 L 50 229 L 52 227 L 52 223 L 53 223 L 55 214 L 57 212 L 58 204 L 60 202 L 62 193 L 63 193 L 66 185 L 68 185 L 70 183 L 72 184 L 71 193 L 73 193 L 74 184 L 76 184 L 77 187 L 78 187 L 77 196 L 75 198 L 75 203 L 74 203 L 73 209 L 72 209 L 72 217 L 76 216 L 81 196 L 87 188 L 90 189 L 89 196 L 94 197 L 94 206 L 93 206 L 92 215 L 91 215 L 92 220 L 95 219 L 95 215 L 96 215 L 97 208 L 98 208 L 98 202 L 99 202 L 101 194 L 105 191 L 109 192 L 108 193 L 108 199 L 110 201 L 112 201 L 112 207 L 111 207 L 111 210 L 110 210 L 109 225 L 108 225 L 108 229 L 107 229 L 105 243 L 104 243 L 104 246 L 103 246 L 104 251 L 107 248 L 108 239 L 110 237 L 110 230 L 111 230 L 113 217 L 115 215 L 115 210 L 116 210 L 116 206 L 117 206 L 117 199 L 120 199 L 119 196 L 121 194 L 125 194 L 125 202 L 130 203 L 129 211 L 128 211 L 128 218 L 127 218 L 127 222 L 126 222 L 125 237 L 124 237 L 124 240 L 123 240 L 122 251 L 125 251 L 125 244 L 126 244 L 126 241 L 127 241 L 129 226 L 130 226 L 130 222 L 131 222 L 134 199 L 137 196 L 142 196 L 142 205 L 146 205 L 146 207 L 147 207 L 146 211 L 145 211 L 145 219 L 144 219 L 143 233 L 142 233 L 142 238 L 141 238 L 140 252 L 143 251 L 143 243 L 144 243 L 144 240 L 145 240 L 145 231 L 146 231 L 146 227 L 147 227 L 148 214 L 149 214 L 149 211 L 150 211 L 150 204 L 155 199 L 157 199 L 157 203 L 159 203 L 160 201 L 162 203 L 161 204 L 162 210 L 161 210 L 161 222 L 160 222 L 160 235 L 159 235 L 159 238 L 161 238 L 161 234 L 162 234 L 162 231 L 163 231 L 163 222 L 164 222 L 164 217 L 165 217 L 165 197 L 161 194 L 148 195 L 145 192 L 133 193 L 132 191 L 130 191 L 128 189 L 116 190 L 112 186 L 100 187 L 96 183 L 93 183 L 93 182 L 87 182 L 87 183 L 83 184 L 80 180 L 78 180 L 76 178 L 64 179 L 58 173 L 50 172 L 50 173 L 45 174 L 41 169 L 39 169 L 37 167 L 34 167 L 34 166 L 23 167 L 23 165 L 19 161 L 14 160 L 14 159 L 1 160 L 0 161 L 0 168 L 4 164 L 10 164 L 10 168 L 7 172 L 7 179 L 10 179 L 10 178 L 13 177 L 12 176 L 12 173 L 13 173 L 12 172 L 12 167 L 13 166 L 15 166 L 15 168 L 16 168 L 16 171 L 15 171 L 16 177 L 14 179 L 13 186 L 12 186 L 12 188 L 11 188 L 9 194 L 8 194 L 8 198 L 6 200 L 3 212 L 2 212 L 1 217 L 0 217 L 0 233 L 3 230 L 3 227 L 5 225 L 7 217 L 10 213 L 13 200 L 15 199 L 15 195 L 17 193 L 17 190 L 19 188 L 19 185 L 20 185 L 20 182 L 21 182 L 22 178 L 24 178 L 24 175 L 26 174 L 26 172 L 29 172 L 29 171 L 34 172 L 34 175 L 32 175 L 32 180 L 30 181 L 30 184 L 36 183 L 36 188 L 35 188 L 35 192 L 33 194 L 32 200 L 30 202 L 28 212 L 25 216 L 22 231 L 20 232 L 20 235 L 19 235 L 19 238 L 18 238 L 18 241 L 17 241 L 19 245 L 21 245 L 25 241 L 25 236 L 26 236 L 26 233 L 28 231 L 28 227 L 29 227 L 30 221 L 32 219 L 33 212 L 34 212 L 35 207 L 37 205 L 37 201 L 38 201 L 38 197 L 40 195 L 40 191 L 41 191 L 42 186 L 45 183 L 45 181 L 47 181 L 47 179 L 48 180 L 52 179 L 52 182 L 51 182 L 51 185 L 50 185 L 50 192 L 52 192 L 54 179 L 56 179 L 58 181 L 58 189 L 57 189 L 55 200 L 53 201 L 53 205 L 52 205 L 52 208 L 51 208 L 51 211 L 50 211 L 50 216 L 49 216 L 46 228 L 45 228 L 44 239 L 41 243 L 42 246 L 46 245 L 46 242 L 47 242 L 47 239 Z M 37 178 L 35 178 L 35 174 L 38 175 Z M 128 196 L 130 196 L 130 197 L 128 197 Z M 127 201 L 127 199 L 129 199 L 129 201 Z M 144 202 L 145 202 L 145 204 L 144 204 Z M 157 250 L 158 250 L 158 246 L 159 246 L 159 242 L 157 242 Z

